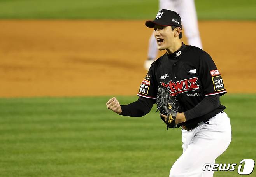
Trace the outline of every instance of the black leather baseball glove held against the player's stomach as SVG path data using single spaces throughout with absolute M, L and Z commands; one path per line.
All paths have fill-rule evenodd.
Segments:
M 179 101 L 175 96 L 170 95 L 171 91 L 167 87 L 158 86 L 158 93 L 156 98 L 156 107 L 160 111 L 160 118 L 164 121 L 168 128 L 178 127 L 175 124 L 175 119 L 178 110 L 181 110 Z M 161 114 L 166 115 L 167 119 L 161 116 Z

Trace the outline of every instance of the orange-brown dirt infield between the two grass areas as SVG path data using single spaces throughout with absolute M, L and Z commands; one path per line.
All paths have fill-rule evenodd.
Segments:
M 136 95 L 147 73 L 152 31 L 144 21 L 2 20 L 0 26 L 0 97 Z M 256 22 L 199 26 L 228 92 L 256 93 Z

